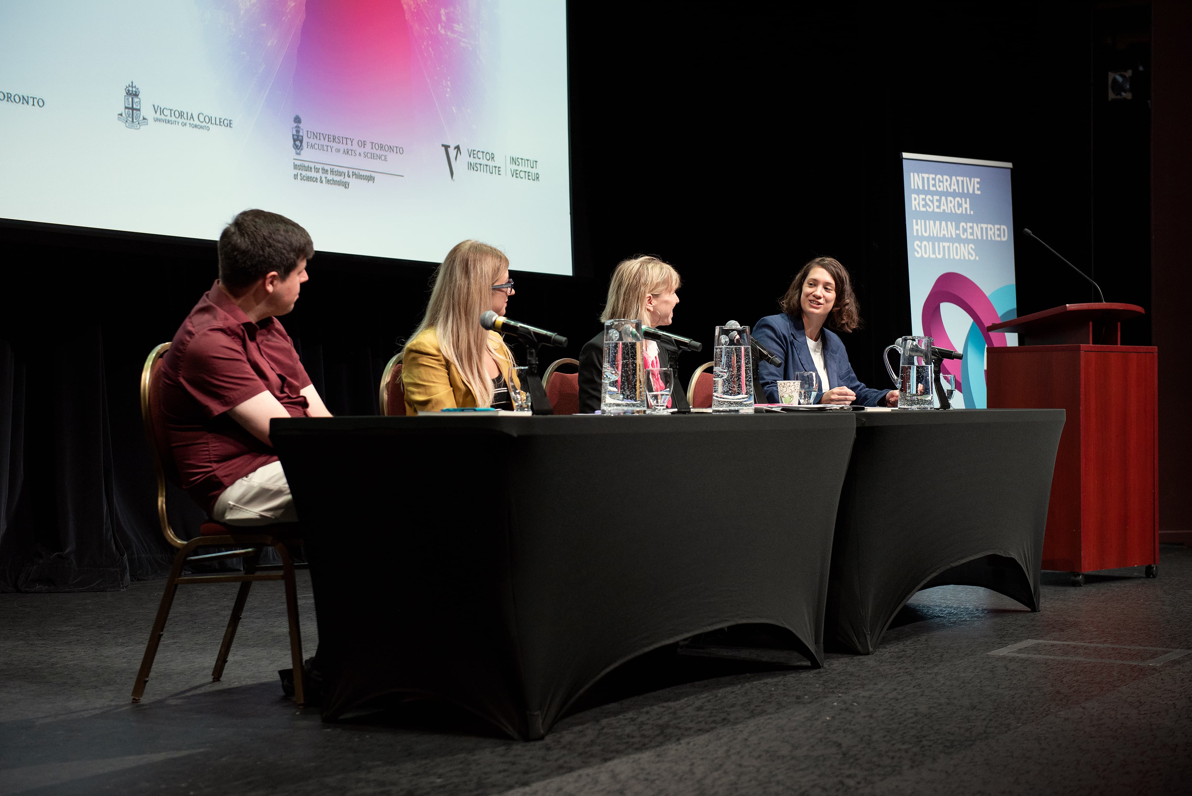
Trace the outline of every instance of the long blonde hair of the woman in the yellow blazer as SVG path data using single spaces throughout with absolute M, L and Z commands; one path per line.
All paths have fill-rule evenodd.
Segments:
M 435 270 L 427 313 L 410 337 L 414 340 L 427 329 L 435 330 L 439 350 L 459 371 L 464 384 L 476 396 L 477 406 L 492 403 L 485 355 L 492 354 L 510 366 L 514 361 L 509 347 L 504 342 L 495 343 L 480 325 L 480 316 L 492 309 L 492 284 L 508 267 L 509 257 L 496 247 L 479 241 L 457 243 Z

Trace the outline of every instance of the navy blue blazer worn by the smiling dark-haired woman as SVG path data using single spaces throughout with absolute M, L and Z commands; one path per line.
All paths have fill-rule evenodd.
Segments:
M 782 357 L 781 368 L 764 360 L 758 363 L 757 372 L 768 403 L 778 403 L 778 380 L 790 381 L 795 378 L 794 374 L 800 371 L 817 372 L 812 352 L 807 348 L 807 335 L 803 334 L 802 318 L 795 321 L 786 313 L 766 316 L 753 327 L 753 337 Z M 828 385 L 820 385 L 815 393 L 815 403 L 819 403 L 825 390 L 848 387 L 857 393 L 857 400 L 853 402 L 856 405 L 884 405 L 882 399 L 886 398 L 889 390 L 873 390 L 857 380 L 857 374 L 849 365 L 849 352 L 844 350 L 844 342 L 836 332 L 824 328 L 820 330 L 820 340 L 824 343 L 824 368 L 827 371 Z

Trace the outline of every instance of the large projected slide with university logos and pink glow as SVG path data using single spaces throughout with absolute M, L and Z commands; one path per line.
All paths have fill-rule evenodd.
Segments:
M 571 274 L 564 0 L 0 6 L 0 218 Z

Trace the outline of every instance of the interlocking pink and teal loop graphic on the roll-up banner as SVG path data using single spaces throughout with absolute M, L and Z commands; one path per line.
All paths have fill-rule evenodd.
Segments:
M 940 307 L 954 304 L 973 319 L 964 336 L 962 350 L 964 359 L 960 362 L 944 360 L 940 371 L 956 377 L 956 388 L 964 396 L 966 409 L 985 409 L 985 349 L 987 346 L 1005 347 L 1006 335 L 1000 331 L 988 331 L 986 328 L 1000 321 L 1017 317 L 1018 307 L 1014 298 L 1014 286 L 1004 285 L 988 296 L 976 282 L 966 276 L 949 272 L 940 274 L 927 293 L 923 304 L 924 334 L 935 340 L 936 346 L 957 349 L 948 336 Z

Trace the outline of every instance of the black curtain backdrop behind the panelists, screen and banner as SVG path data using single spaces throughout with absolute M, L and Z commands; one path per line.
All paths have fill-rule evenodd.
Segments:
M 1150 68 L 1148 4 L 569 13 L 577 275 L 514 262 L 509 307 L 571 338 L 547 360 L 577 356 L 595 334 L 627 256 L 679 269 L 672 330 L 706 340 L 714 324 L 776 312 L 801 265 L 831 255 L 852 272 L 865 318 L 844 336 L 853 368 L 886 386 L 881 350 L 911 330 L 902 151 L 1012 161 L 1016 226 L 1092 269 L 1107 300 L 1149 310 L 1149 97 L 1105 100 L 1107 68 Z M 130 179 L 153 189 L 160 176 Z M 212 218 L 212 236 L 240 210 Z M 161 576 L 173 548 L 156 522 L 137 380 L 215 279 L 215 244 L 2 223 L 0 245 L 0 590 Z M 1089 300 L 1023 236 L 1016 260 L 1020 315 Z M 310 274 L 286 329 L 333 412 L 373 413 L 432 267 L 318 253 Z M 1149 321 L 1131 322 L 1123 342 L 1149 334 Z M 683 378 L 702 361 L 685 354 Z M 172 511 L 181 535 L 197 530 L 185 496 Z

